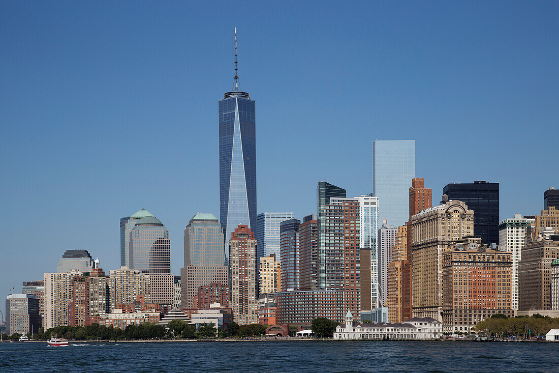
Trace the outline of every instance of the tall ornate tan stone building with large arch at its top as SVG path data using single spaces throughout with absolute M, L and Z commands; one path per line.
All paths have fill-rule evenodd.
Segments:
M 443 195 L 439 206 L 411 217 L 413 315 L 442 321 L 442 255 L 473 235 L 473 211 Z

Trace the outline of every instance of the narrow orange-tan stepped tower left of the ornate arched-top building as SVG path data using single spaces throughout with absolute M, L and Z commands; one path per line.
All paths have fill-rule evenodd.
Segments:
M 395 245 L 392 248 L 392 262 L 388 264 L 388 309 L 389 321 L 402 321 L 403 268 L 408 258 L 408 226 L 398 227 Z

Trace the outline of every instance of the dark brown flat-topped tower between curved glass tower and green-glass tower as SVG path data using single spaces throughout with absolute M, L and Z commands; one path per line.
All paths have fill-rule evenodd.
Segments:
M 299 287 L 318 286 L 318 229 L 316 215 L 307 215 L 299 226 Z

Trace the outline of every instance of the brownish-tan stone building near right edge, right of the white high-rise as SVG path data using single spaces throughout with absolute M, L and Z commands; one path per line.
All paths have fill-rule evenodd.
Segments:
M 551 310 L 551 262 L 557 258 L 559 235 L 553 229 L 543 230 L 535 241 L 524 246 L 518 263 L 520 311 Z

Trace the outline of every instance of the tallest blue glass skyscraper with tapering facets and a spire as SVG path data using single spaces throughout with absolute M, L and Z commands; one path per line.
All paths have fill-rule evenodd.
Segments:
M 233 91 L 219 101 L 219 207 L 226 240 L 239 225 L 257 227 L 255 106 L 239 90 L 236 32 L 234 80 Z

